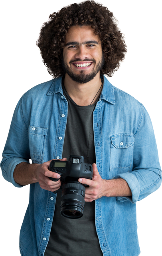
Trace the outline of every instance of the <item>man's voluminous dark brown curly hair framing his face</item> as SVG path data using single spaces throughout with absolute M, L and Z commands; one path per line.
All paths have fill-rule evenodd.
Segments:
M 121 70 L 129 48 L 119 24 L 114 12 L 98 0 L 70 2 L 51 12 L 41 23 L 34 42 L 47 74 L 52 78 L 65 74 L 61 64 L 65 36 L 71 26 L 78 25 L 91 26 L 94 34 L 99 35 L 105 60 L 100 74 L 112 79 Z

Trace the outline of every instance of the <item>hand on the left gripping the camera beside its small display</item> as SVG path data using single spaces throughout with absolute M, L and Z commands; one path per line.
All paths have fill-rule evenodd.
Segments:
M 56 160 L 56 159 L 52 159 L 52 160 Z M 36 169 L 35 177 L 39 182 L 41 188 L 54 192 L 61 187 L 61 180 L 59 179 L 57 181 L 53 181 L 48 178 L 48 177 L 51 177 L 51 178 L 58 179 L 57 178 L 58 173 L 49 171 L 49 164 L 52 160 L 49 160 L 48 162 L 44 162 L 43 164 L 39 164 Z M 66 158 L 59 159 L 59 160 L 67 161 Z

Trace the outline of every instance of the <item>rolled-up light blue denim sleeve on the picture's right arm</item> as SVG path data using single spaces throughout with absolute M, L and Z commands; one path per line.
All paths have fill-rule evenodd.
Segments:
M 148 198 L 162 186 L 162 165 L 158 142 L 147 108 L 143 107 L 142 117 L 134 134 L 132 172 L 119 174 L 115 178 L 126 180 L 132 192 L 131 197 L 117 197 L 117 200 L 126 199 L 134 204 Z

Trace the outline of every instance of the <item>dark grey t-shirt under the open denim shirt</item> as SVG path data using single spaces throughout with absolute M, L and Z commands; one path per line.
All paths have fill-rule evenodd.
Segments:
M 77 105 L 67 94 L 68 117 L 63 144 L 62 158 L 69 155 L 84 156 L 84 162 L 96 162 L 93 136 L 93 111 L 96 102 L 90 106 Z M 83 216 L 69 219 L 60 214 L 61 192 L 57 192 L 55 212 L 44 256 L 103 256 L 95 228 L 95 201 L 85 202 Z

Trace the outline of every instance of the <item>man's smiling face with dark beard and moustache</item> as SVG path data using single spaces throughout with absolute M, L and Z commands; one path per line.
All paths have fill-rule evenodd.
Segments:
M 79 64 L 80 67 L 74 65 Z M 90 66 L 88 66 L 91 63 Z M 65 36 L 62 68 L 79 84 L 91 81 L 105 63 L 101 40 L 91 26 L 72 26 Z M 86 65 L 87 64 L 87 67 Z M 83 66 L 82 66 L 83 65 Z

